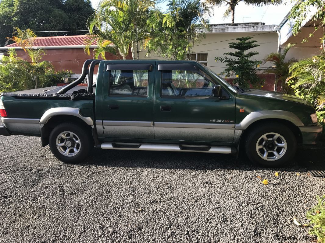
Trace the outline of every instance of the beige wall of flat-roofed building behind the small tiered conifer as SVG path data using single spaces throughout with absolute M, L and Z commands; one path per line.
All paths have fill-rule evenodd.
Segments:
M 255 35 L 255 36 L 253 36 Z M 276 52 L 278 46 L 278 34 L 276 32 L 232 32 L 232 33 L 207 33 L 206 38 L 200 43 L 194 44 L 194 52 L 208 53 L 207 65 L 214 72 L 220 73 L 224 70 L 225 65 L 216 63 L 214 57 L 222 56 L 223 53 L 233 51 L 228 48 L 229 42 L 239 37 L 252 36 L 252 40 L 256 40 L 260 46 L 252 49 L 252 51 L 259 52 L 254 56 L 254 59 L 262 60 L 266 54 Z M 146 52 L 142 49 L 140 52 L 140 59 L 162 59 L 158 54 L 153 53 L 151 56 L 146 57 Z M 268 67 L 269 64 L 264 65 Z

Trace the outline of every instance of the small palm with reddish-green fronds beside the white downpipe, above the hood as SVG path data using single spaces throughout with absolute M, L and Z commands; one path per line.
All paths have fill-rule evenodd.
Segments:
M 263 59 L 263 64 L 266 64 L 267 62 L 273 63 L 273 66 L 268 67 L 264 74 L 275 74 L 275 85 L 274 85 L 274 91 L 277 90 L 278 83 L 280 81 L 282 85 L 282 92 L 285 94 L 288 94 L 290 91 L 290 88 L 288 85 L 286 85 L 286 79 L 289 75 L 289 67 L 296 62 L 296 59 L 291 58 L 288 61 L 285 61 L 285 57 L 289 51 L 289 49 L 294 46 L 295 44 L 289 43 L 286 45 L 283 49 L 283 52 L 271 52 L 270 54 L 266 55 Z

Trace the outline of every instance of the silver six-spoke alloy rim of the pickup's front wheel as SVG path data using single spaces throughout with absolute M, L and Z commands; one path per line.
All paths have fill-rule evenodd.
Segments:
M 267 161 L 278 160 L 287 151 L 287 142 L 279 133 L 265 133 L 256 143 L 258 156 Z

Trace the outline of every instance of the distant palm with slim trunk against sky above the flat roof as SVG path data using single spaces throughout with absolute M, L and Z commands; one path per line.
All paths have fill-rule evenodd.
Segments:
M 225 6 L 228 5 L 228 9 L 226 10 L 224 17 L 228 17 L 231 14 L 231 23 L 235 22 L 235 6 L 240 2 L 244 2 L 247 5 L 260 7 L 270 4 L 278 5 L 282 3 L 282 0 L 206 0 L 206 3 L 217 7 L 222 6 L 223 4 L 225 4 Z

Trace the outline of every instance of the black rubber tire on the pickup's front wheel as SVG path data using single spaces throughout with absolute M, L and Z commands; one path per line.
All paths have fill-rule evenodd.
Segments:
M 248 135 L 244 141 L 245 150 L 248 158 L 254 164 L 263 167 L 281 167 L 291 160 L 296 153 L 296 137 L 291 129 L 282 123 L 267 122 L 258 124 L 247 132 Z M 277 133 L 280 136 L 276 138 L 276 134 L 273 133 Z M 265 134 L 268 134 L 266 135 L 267 139 L 276 139 L 274 141 L 267 141 L 267 139 L 263 138 L 260 139 Z M 281 147 L 278 147 L 277 144 L 281 145 Z M 286 144 L 286 146 L 284 144 Z M 258 148 L 258 146 L 262 148 Z M 283 153 L 281 154 L 281 152 Z M 266 158 L 261 157 L 265 155 Z

